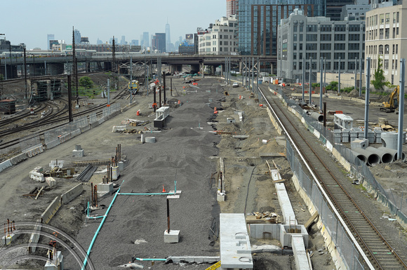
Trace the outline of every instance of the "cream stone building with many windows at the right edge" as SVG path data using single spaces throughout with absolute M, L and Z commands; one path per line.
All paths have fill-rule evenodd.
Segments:
M 400 60 L 407 55 L 407 18 L 403 19 L 407 16 L 407 3 L 395 6 L 388 3 L 366 13 L 365 50 L 366 58 L 371 58 L 371 79 L 380 59 L 385 80 L 397 85 Z

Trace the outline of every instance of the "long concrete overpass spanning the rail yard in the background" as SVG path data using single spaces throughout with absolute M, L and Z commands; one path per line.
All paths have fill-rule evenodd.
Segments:
M 203 71 L 205 66 L 211 66 L 211 73 L 215 67 L 222 66 L 225 70 L 225 58 L 230 58 L 232 66 L 239 68 L 239 72 L 247 65 L 248 58 L 260 62 L 260 72 L 276 73 L 276 56 L 262 55 L 175 55 L 168 53 L 124 53 L 116 54 L 118 67 L 126 67 L 132 59 L 133 65 L 170 65 L 170 72 L 181 71 L 183 65 L 190 65 L 194 72 Z M 243 63 L 245 59 L 245 63 Z M 72 73 L 72 55 L 29 55 L 27 53 L 27 74 L 30 76 L 58 75 Z M 77 55 L 79 70 L 109 71 L 112 69 L 113 57 L 110 55 Z M 250 61 L 252 62 L 252 61 Z M 250 63 L 251 65 L 251 63 Z M 121 73 L 127 73 L 121 68 Z M 6 79 L 15 79 L 24 74 L 24 58 L 0 59 L 0 74 Z

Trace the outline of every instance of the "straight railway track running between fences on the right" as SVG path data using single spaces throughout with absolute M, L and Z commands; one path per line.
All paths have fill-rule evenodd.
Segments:
M 261 91 L 261 90 L 260 90 Z M 372 220 L 373 217 L 360 201 L 361 196 L 354 196 L 349 193 L 349 180 L 345 177 L 335 175 L 327 162 L 320 157 L 321 147 L 310 140 L 308 132 L 304 133 L 303 129 L 297 128 L 298 123 L 295 118 L 283 108 L 276 97 L 269 93 L 262 93 L 272 112 L 285 127 L 286 133 L 291 136 L 293 143 L 300 149 L 305 161 L 309 164 L 312 173 L 323 187 L 333 205 L 338 210 L 340 217 L 345 221 L 347 227 L 352 231 L 354 238 L 361 246 L 364 254 L 368 258 L 363 259 L 359 256 L 359 262 L 363 264 L 364 269 L 407 269 L 407 265 L 392 244 L 385 237 Z M 317 149 L 319 148 L 319 149 Z M 363 198 L 362 198 L 363 199 Z M 402 250 L 401 250 L 402 251 Z M 364 261 L 364 262 L 363 262 Z

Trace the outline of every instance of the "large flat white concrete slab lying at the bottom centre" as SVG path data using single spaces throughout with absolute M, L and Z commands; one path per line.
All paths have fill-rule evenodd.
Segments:
M 220 213 L 220 269 L 253 269 L 244 214 Z

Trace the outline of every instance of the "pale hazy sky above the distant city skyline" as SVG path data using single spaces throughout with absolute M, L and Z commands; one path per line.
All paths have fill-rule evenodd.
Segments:
M 140 42 L 142 32 L 164 33 L 167 18 L 174 43 L 226 15 L 225 0 L 1 0 L 0 6 L 0 33 L 12 45 L 44 50 L 47 34 L 72 43 L 72 27 L 92 44 L 112 36 Z

